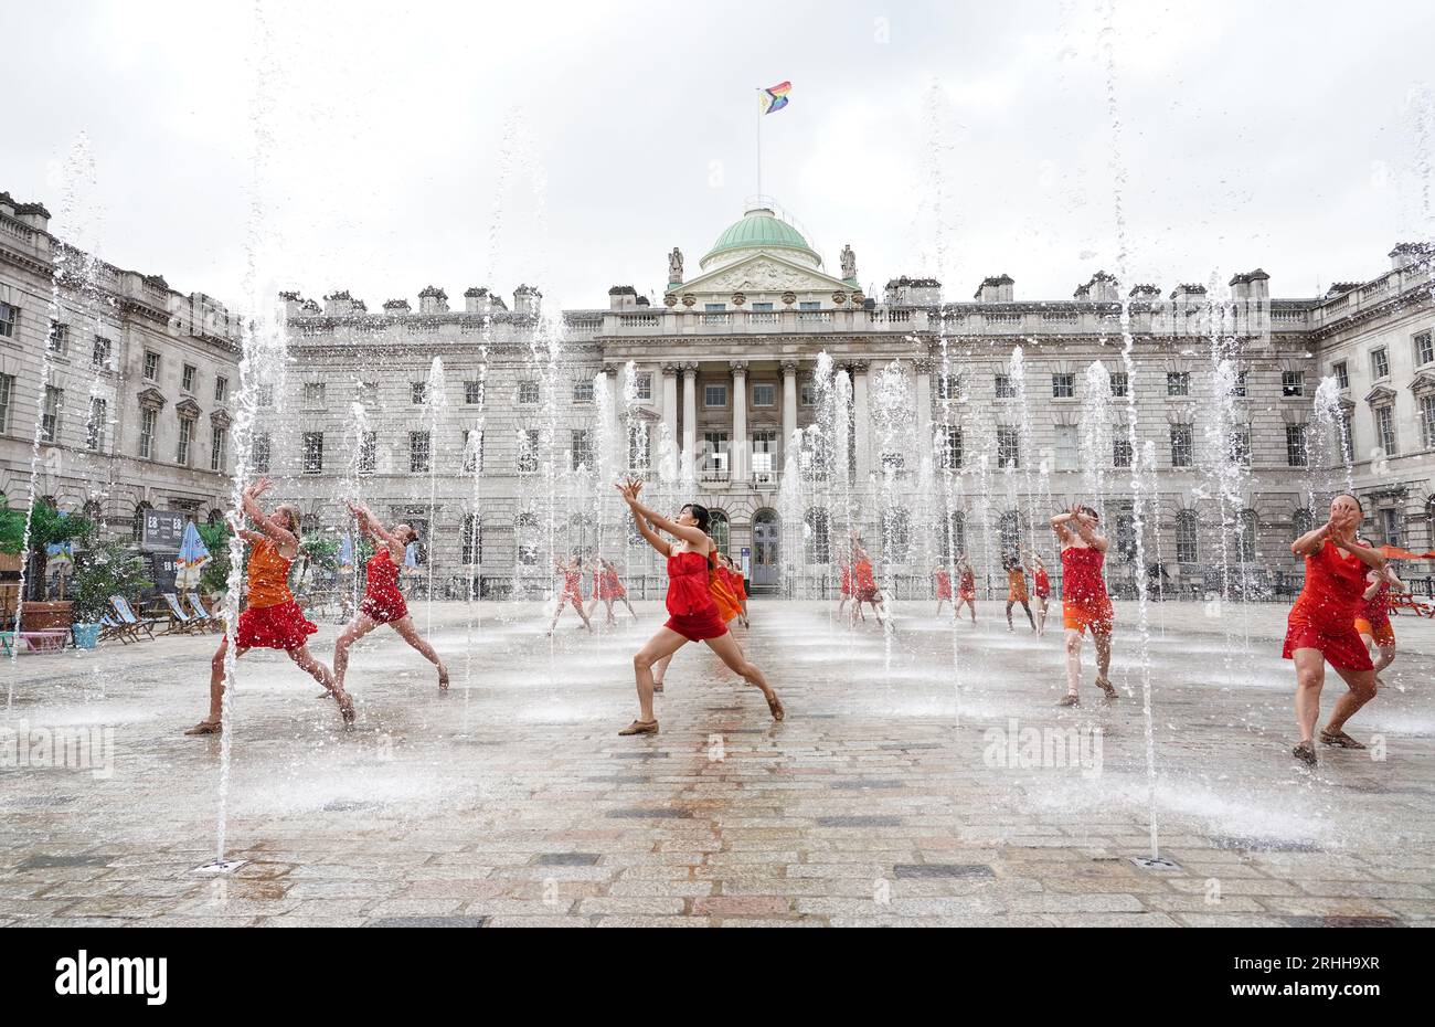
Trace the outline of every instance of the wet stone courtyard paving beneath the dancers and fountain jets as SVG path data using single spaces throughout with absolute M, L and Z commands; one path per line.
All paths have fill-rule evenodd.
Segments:
M 1131 862 L 1149 852 L 1134 605 L 1122 698 L 1088 685 L 1058 710 L 1059 631 L 1009 635 L 996 603 L 956 631 L 904 603 L 885 636 L 755 600 L 739 636 L 786 722 L 689 646 L 649 738 L 616 733 L 659 603 L 596 638 L 568 613 L 551 645 L 537 605 L 479 610 L 469 648 L 462 603 L 415 606 L 446 697 L 392 632 L 360 643 L 352 731 L 283 655 L 241 661 L 227 855 L 245 863 L 227 878 L 194 873 L 215 858 L 221 744 L 181 734 L 214 638 L 6 662 L 0 727 L 109 728 L 113 760 L 0 767 L 0 925 L 1435 922 L 1435 622 L 1395 622 L 1402 654 L 1350 725 L 1372 751 L 1307 771 L 1286 608 L 1154 606 L 1154 810 L 1180 869 L 1148 870 Z

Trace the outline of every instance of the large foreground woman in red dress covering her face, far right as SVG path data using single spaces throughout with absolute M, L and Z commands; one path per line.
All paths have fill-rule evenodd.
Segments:
M 1330 519 L 1290 544 L 1306 559 L 1306 585 L 1290 608 L 1281 655 L 1296 662 L 1296 724 L 1300 743 L 1292 750 L 1302 763 L 1316 766 L 1316 721 L 1320 718 L 1320 689 L 1326 664 L 1336 668 L 1349 691 L 1320 731 L 1320 741 L 1340 748 L 1365 748 L 1345 733 L 1346 721 L 1375 698 L 1375 664 L 1355 628 L 1356 612 L 1366 590 L 1368 570 L 1385 572 L 1385 557 L 1362 546 L 1356 529 L 1365 510 L 1355 496 L 1330 501 Z

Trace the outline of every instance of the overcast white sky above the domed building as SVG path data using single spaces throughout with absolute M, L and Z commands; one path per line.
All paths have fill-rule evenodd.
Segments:
M 0 190 L 231 302 L 255 227 L 265 287 L 376 310 L 522 280 L 606 306 L 611 284 L 660 294 L 673 246 L 692 274 L 742 214 L 755 88 L 791 79 L 762 185 L 829 267 L 851 243 L 864 286 L 937 274 L 953 299 L 1000 271 L 1019 299 L 1069 297 L 1115 270 L 1099 4 L 258 10 L 7 0 Z M 1111 30 L 1128 280 L 1261 266 L 1274 294 L 1310 296 L 1435 234 L 1435 4 L 1118 0 Z

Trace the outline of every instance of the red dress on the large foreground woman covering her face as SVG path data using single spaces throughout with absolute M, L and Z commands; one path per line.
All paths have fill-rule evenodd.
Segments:
M 1336 669 L 1375 669 L 1355 629 L 1366 589 L 1366 570 L 1365 563 L 1346 559 L 1329 540 L 1306 557 L 1306 586 L 1290 608 L 1281 656 L 1293 659 L 1296 649 L 1320 649 Z

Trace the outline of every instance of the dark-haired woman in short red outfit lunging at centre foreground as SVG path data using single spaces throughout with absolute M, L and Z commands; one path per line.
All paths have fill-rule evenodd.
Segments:
M 762 691 L 768 701 L 772 720 L 782 720 L 782 701 L 772 691 L 768 679 L 755 664 L 748 661 L 738 648 L 718 613 L 709 590 L 709 552 L 713 547 L 707 537 L 710 517 L 707 508 L 689 503 L 677 517 L 669 520 L 653 513 L 639 501 L 643 483 L 629 478 L 618 483 L 618 491 L 633 513 L 633 523 L 649 544 L 667 557 L 667 623 L 633 656 L 633 671 L 637 678 L 639 718 L 618 734 L 657 734 L 657 717 L 653 715 L 653 664 L 677 652 L 687 642 L 706 642 L 732 671 Z M 667 542 L 657 530 L 667 531 L 676 542 Z

